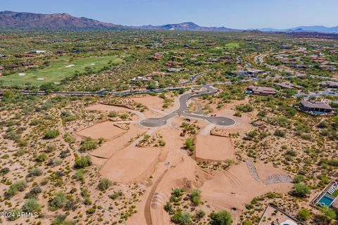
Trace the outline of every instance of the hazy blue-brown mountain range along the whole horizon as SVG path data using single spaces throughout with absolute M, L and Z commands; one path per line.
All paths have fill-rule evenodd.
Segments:
M 201 27 L 192 22 L 167 24 L 167 25 L 144 25 L 144 26 L 123 26 L 113 23 L 103 23 L 99 20 L 89 18 L 77 18 L 67 13 L 41 14 L 41 13 L 17 13 L 13 11 L 0 12 L 0 28 L 16 29 L 92 29 L 92 28 L 118 28 L 118 29 L 139 29 L 139 30 L 189 30 L 208 32 L 243 32 L 251 31 L 232 29 L 228 27 Z M 263 28 L 254 31 L 261 32 L 319 32 L 326 34 L 338 33 L 337 27 L 324 26 L 301 26 L 289 29 Z

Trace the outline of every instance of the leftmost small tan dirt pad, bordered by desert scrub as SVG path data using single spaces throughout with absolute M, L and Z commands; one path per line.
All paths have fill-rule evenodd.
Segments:
M 77 132 L 77 135 L 91 137 L 92 139 L 104 138 L 106 141 L 111 141 L 117 136 L 121 136 L 125 130 L 114 126 L 113 122 L 106 121 L 95 124 L 92 127 L 87 127 Z

